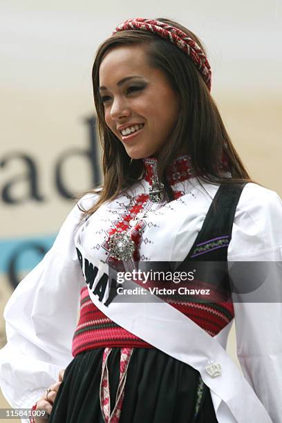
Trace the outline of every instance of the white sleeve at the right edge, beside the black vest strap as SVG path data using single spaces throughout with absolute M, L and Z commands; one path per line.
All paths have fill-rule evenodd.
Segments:
M 237 355 L 247 381 L 274 423 L 282 423 L 281 259 L 281 198 L 274 191 L 247 184 L 228 249 L 228 261 L 238 266 L 232 295 Z M 239 263 L 246 261 L 252 263 Z

